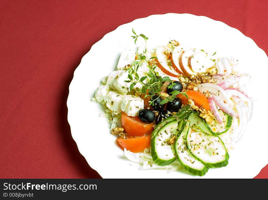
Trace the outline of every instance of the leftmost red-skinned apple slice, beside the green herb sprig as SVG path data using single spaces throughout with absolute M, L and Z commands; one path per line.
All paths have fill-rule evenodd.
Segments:
M 164 54 L 164 52 L 168 50 L 167 48 L 160 46 L 156 49 L 157 54 L 157 66 L 166 74 L 172 77 L 178 77 L 178 72 L 172 67 L 172 65 L 168 66 L 168 57 Z M 170 60 L 170 64 L 172 64 Z

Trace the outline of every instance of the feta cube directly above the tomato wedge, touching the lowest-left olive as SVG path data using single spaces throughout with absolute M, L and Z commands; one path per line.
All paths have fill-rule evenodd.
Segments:
M 121 103 L 121 110 L 126 115 L 136 117 L 140 109 L 144 107 L 144 101 L 139 96 L 124 95 Z

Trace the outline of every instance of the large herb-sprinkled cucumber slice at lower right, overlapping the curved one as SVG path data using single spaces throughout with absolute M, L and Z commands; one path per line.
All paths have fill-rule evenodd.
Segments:
M 191 154 L 207 167 L 223 167 L 228 164 L 229 154 L 219 136 L 188 132 L 186 142 Z

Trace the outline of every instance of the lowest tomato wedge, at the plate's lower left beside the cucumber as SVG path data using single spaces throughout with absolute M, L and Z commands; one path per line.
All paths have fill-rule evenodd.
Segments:
M 151 135 L 144 135 L 141 137 L 129 137 L 129 138 L 122 138 L 118 137 L 117 142 L 119 146 L 124 149 L 138 153 L 142 152 L 144 149 L 149 148 L 151 143 Z

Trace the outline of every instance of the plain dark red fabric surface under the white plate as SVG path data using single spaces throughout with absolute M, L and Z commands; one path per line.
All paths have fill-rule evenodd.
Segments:
M 268 53 L 268 2 L 0 2 L 0 178 L 101 178 L 80 155 L 66 100 L 82 56 L 121 24 L 152 14 L 220 20 Z M 256 178 L 268 178 L 268 165 Z

